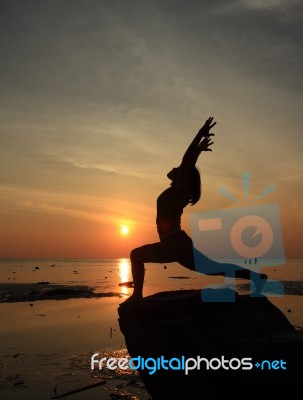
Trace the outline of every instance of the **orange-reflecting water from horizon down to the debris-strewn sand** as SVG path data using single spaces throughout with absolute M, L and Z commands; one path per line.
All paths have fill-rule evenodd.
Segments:
M 284 293 L 269 295 L 298 328 L 303 327 L 303 261 L 266 267 L 270 281 L 281 282 Z M 0 342 L 14 352 L 65 352 L 125 348 L 117 309 L 132 289 L 120 286 L 132 280 L 129 259 L 2 259 L 0 260 Z M 26 284 L 87 286 L 100 298 L 71 298 L 5 302 L 5 292 Z M 202 289 L 226 285 L 224 277 L 205 276 L 177 263 L 146 264 L 144 296 L 168 290 Z M 240 281 L 238 292 L 249 290 Z M 31 289 L 32 290 L 32 289 Z

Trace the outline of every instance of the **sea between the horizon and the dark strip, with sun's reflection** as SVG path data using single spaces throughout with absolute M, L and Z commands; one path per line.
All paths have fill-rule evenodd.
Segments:
M 232 260 L 233 261 L 233 260 Z M 231 262 L 232 262 L 231 261 Z M 290 259 L 283 265 L 258 266 L 271 280 L 292 282 L 293 293 L 301 294 L 303 260 Z M 242 265 L 255 270 L 255 265 Z M 161 290 L 199 288 L 225 283 L 221 277 L 211 277 L 189 271 L 178 263 L 145 265 L 145 294 Z M 132 280 L 130 260 L 117 259 L 0 259 L 0 283 L 23 284 L 49 282 L 61 285 L 84 285 L 96 292 L 128 295 L 131 289 L 119 286 Z M 291 291 L 287 284 L 288 291 Z M 175 289 L 172 289 L 175 288 Z M 287 292 L 286 292 L 287 293 Z M 303 294 L 303 293 L 302 293 Z

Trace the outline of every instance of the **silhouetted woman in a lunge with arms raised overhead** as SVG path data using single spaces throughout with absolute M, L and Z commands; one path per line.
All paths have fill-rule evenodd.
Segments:
M 157 199 L 156 224 L 160 241 L 131 251 L 134 291 L 121 306 L 143 299 L 144 263 L 178 262 L 185 268 L 207 275 L 252 279 L 256 293 L 261 294 L 267 279 L 266 275 L 260 275 L 238 265 L 211 260 L 194 248 L 192 239 L 181 229 L 184 208 L 189 204 L 196 204 L 201 197 L 201 179 L 196 162 L 202 152 L 212 151 L 211 136 L 214 134 L 210 130 L 215 125 L 213 117 L 208 118 L 186 150 L 181 164 L 168 172 L 167 177 L 171 180 L 171 184 Z

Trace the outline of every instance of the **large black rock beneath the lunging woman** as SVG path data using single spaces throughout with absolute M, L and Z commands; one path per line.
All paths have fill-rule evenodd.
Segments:
M 280 398 L 285 388 L 288 398 L 299 393 L 302 331 L 296 331 L 266 297 L 236 294 L 235 300 L 202 302 L 200 291 L 191 290 L 157 293 L 140 304 L 119 307 L 120 329 L 131 357 L 141 356 L 140 362 L 142 357 L 161 356 L 207 359 L 200 362 L 200 370 L 187 375 L 184 370 L 161 368 L 150 374 L 151 368 L 139 369 L 153 400 L 242 400 L 264 398 L 267 392 Z M 243 358 L 249 359 L 250 369 L 242 369 Z M 181 364 L 175 360 L 172 365 Z

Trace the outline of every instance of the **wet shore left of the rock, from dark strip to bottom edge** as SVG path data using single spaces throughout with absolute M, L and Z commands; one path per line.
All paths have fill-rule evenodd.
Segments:
M 117 320 L 119 301 L 109 297 L 0 304 L 0 398 L 50 399 L 55 392 L 105 380 L 70 398 L 148 399 L 137 373 L 90 369 L 96 352 L 128 357 Z

